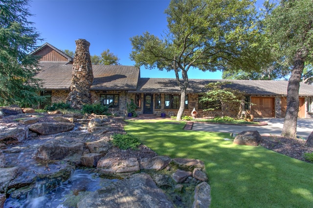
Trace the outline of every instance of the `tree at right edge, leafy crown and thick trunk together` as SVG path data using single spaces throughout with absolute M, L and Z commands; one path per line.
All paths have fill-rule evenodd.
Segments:
M 299 88 L 305 63 L 313 60 L 313 1 L 281 0 L 267 16 L 273 56 L 291 68 L 282 136 L 296 137 Z

